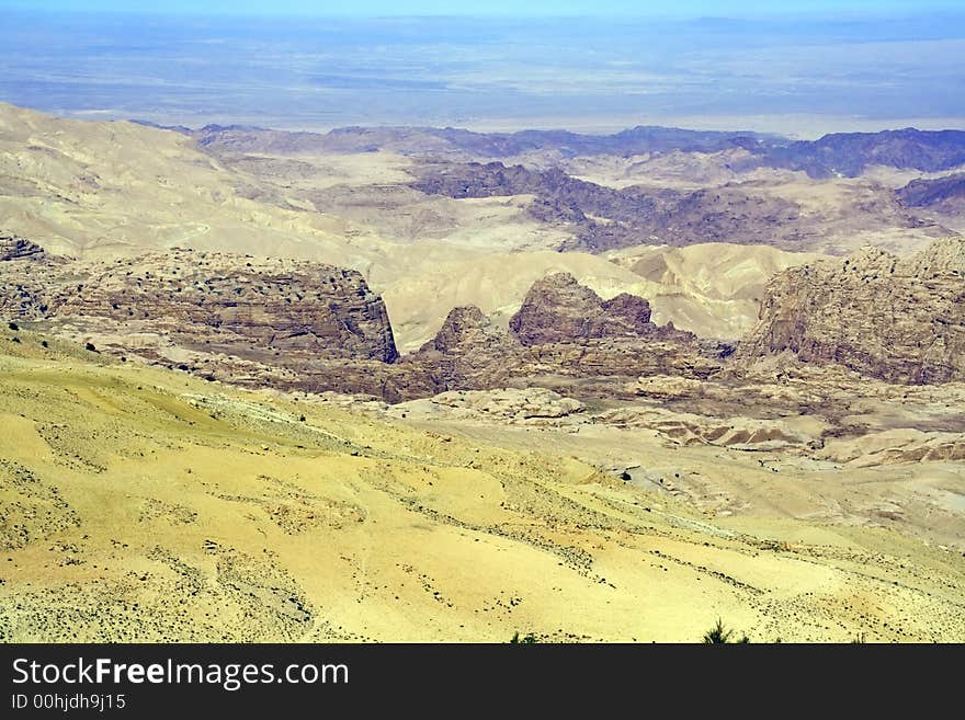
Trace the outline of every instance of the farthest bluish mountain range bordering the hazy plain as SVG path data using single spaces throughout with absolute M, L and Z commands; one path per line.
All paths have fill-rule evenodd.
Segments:
M 477 133 L 453 127 L 341 127 L 327 134 L 281 132 L 243 125 L 208 125 L 190 135 L 218 151 L 305 155 L 389 150 L 410 157 L 501 160 L 527 155 L 557 158 L 712 153 L 733 149 L 753 156 L 753 167 L 784 168 L 811 178 L 861 175 L 870 165 L 923 172 L 965 164 L 965 132 L 912 127 L 879 133 L 833 133 L 817 140 L 792 141 L 775 135 L 636 126 L 612 135 L 567 130 Z

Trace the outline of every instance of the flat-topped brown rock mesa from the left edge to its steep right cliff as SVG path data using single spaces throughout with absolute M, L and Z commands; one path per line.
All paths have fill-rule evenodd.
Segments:
M 31 258 L 0 263 L 3 316 L 96 350 L 239 385 L 373 395 L 386 392 L 386 376 L 370 366 L 398 358 L 385 305 L 355 271 L 177 249 Z

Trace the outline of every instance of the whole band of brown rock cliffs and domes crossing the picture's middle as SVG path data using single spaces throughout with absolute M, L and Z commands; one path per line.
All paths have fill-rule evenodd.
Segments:
M 838 365 L 897 384 L 965 378 L 965 241 L 899 259 L 865 249 L 768 286 L 758 327 L 734 347 L 651 320 L 649 302 L 609 300 L 568 273 L 536 281 L 509 328 L 454 308 L 435 338 L 400 356 L 382 298 L 355 271 L 308 261 L 174 249 L 112 262 L 50 260 L 8 241 L 4 318 L 92 348 L 251 387 L 375 396 L 532 385 L 582 399 L 658 397 L 648 378 L 747 378 L 768 357 Z M 14 255 L 13 250 L 8 254 Z M 29 263 L 30 272 L 25 272 Z M 673 392 L 671 392 L 673 395 Z

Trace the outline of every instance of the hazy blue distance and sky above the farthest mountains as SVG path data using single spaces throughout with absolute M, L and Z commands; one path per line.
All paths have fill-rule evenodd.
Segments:
M 580 19 L 296 16 L 304 2 L 232 3 L 231 13 L 226 3 L 179 2 L 164 14 L 118 13 L 129 3 L 110 0 L 70 3 L 71 12 L 64 2 L 22 4 L 0 3 L 0 101 L 69 117 L 315 130 L 674 125 L 799 137 L 965 127 L 956 92 L 965 14 L 947 12 L 949 2 L 919 12 L 900 1 L 794 2 L 780 14 L 760 2 L 728 8 L 745 20 L 703 16 L 714 3 L 700 1 L 649 3 L 651 18 L 602 2 L 609 15 Z M 831 4 L 836 12 L 820 13 Z M 433 5 L 443 8 L 402 7 Z M 388 4 L 325 5 L 378 7 Z M 258 8 L 274 14 L 247 14 Z M 656 16 L 668 8 L 679 16 Z

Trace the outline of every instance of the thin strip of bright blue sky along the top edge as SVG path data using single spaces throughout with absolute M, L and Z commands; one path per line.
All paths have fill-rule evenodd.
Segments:
M 777 10 L 775 10 L 777 8 Z M 52 12 L 152 11 L 163 13 L 217 14 L 315 14 L 315 15 L 775 15 L 820 13 L 923 14 L 961 11 L 962 0 L 0 0 L 2 9 L 46 10 Z

